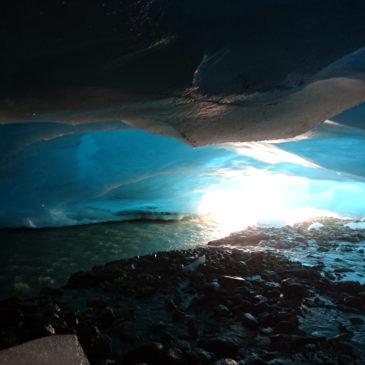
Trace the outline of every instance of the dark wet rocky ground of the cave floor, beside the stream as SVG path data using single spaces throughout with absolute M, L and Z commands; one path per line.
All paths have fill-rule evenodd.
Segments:
M 10 298 L 0 302 L 0 348 L 75 333 L 95 365 L 364 364 L 365 285 L 314 249 L 361 257 L 365 231 L 323 224 L 249 228 Z M 289 260 L 287 250 L 314 261 Z

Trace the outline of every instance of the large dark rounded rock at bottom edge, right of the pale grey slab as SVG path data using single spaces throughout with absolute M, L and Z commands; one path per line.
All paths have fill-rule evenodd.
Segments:
M 159 365 L 163 363 L 164 346 L 159 342 L 146 342 L 128 352 L 123 360 L 125 365 L 148 363 Z

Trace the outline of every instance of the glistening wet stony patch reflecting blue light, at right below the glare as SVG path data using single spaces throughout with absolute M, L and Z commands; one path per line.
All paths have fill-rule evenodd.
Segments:
M 270 251 L 317 266 L 329 279 L 365 284 L 365 222 L 322 218 L 283 228 L 249 227 L 209 245 Z

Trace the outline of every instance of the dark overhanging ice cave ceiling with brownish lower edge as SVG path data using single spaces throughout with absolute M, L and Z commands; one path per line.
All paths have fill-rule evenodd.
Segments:
M 193 145 L 294 137 L 365 101 L 364 13 L 361 0 L 2 1 L 0 122 L 118 119 Z

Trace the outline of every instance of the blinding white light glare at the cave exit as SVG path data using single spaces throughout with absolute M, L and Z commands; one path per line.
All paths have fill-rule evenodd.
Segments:
M 283 226 L 319 216 L 336 216 L 305 206 L 311 194 L 306 178 L 253 169 L 244 176 L 230 176 L 229 180 L 223 186 L 211 187 L 199 205 L 199 213 L 210 216 L 222 233 L 253 225 Z

